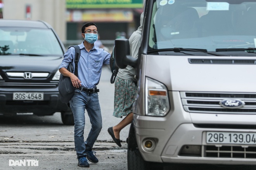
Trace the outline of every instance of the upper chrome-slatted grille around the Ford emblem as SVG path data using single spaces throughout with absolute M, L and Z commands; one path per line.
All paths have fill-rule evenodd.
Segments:
M 255 114 L 256 93 L 205 93 L 180 92 L 183 108 L 187 112 L 218 113 L 218 114 Z M 240 108 L 225 108 L 220 105 L 222 100 L 238 99 L 245 103 Z

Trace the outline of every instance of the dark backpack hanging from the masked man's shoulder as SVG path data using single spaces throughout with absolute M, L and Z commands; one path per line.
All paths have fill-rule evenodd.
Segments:
M 75 72 L 74 75 L 78 76 L 78 61 L 80 58 L 80 48 L 78 45 L 76 46 L 70 46 L 69 48 L 74 47 L 76 54 L 75 54 Z M 73 68 L 72 68 L 72 62 L 69 63 L 67 70 L 70 71 L 71 73 L 73 73 Z M 69 100 L 71 100 L 71 98 L 74 95 L 74 90 L 75 87 L 73 87 L 72 82 L 70 80 L 69 77 L 63 76 L 62 74 L 60 75 L 60 79 L 59 79 L 59 97 L 62 103 L 66 103 L 69 105 Z

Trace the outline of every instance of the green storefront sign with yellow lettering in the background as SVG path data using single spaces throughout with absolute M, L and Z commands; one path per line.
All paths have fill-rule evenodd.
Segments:
M 143 8 L 143 0 L 66 0 L 66 8 Z

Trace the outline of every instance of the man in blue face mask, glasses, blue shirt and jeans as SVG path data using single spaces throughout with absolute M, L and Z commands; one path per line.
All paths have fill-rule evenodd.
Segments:
M 102 128 L 98 97 L 99 89 L 97 89 L 96 85 L 100 81 L 102 66 L 109 64 L 111 55 L 104 49 L 94 46 L 94 42 L 98 37 L 98 27 L 94 23 L 88 22 L 84 24 L 81 31 L 85 41 L 78 45 L 81 50 L 81 56 L 78 61 L 78 76 L 74 75 L 74 72 L 71 73 L 67 70 L 70 62 L 73 63 L 74 68 L 74 48 L 69 48 L 64 54 L 59 71 L 62 75 L 70 77 L 73 86 L 76 88 L 69 104 L 74 115 L 74 143 L 78 166 L 90 167 L 87 159 L 92 163 L 99 162 L 93 154 L 95 151 L 92 151 L 92 147 Z M 83 136 L 85 109 L 92 124 L 86 141 L 84 141 Z

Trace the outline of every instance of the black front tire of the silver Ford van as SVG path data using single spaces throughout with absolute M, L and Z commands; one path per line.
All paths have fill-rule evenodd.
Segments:
M 128 170 L 151 170 L 151 169 L 163 170 L 163 166 L 161 163 L 147 162 L 142 158 L 142 155 L 140 154 L 140 150 L 138 149 L 133 123 L 131 123 L 131 126 L 130 126 L 127 143 L 128 143 L 128 151 L 127 151 Z M 157 167 L 155 165 L 157 165 Z

